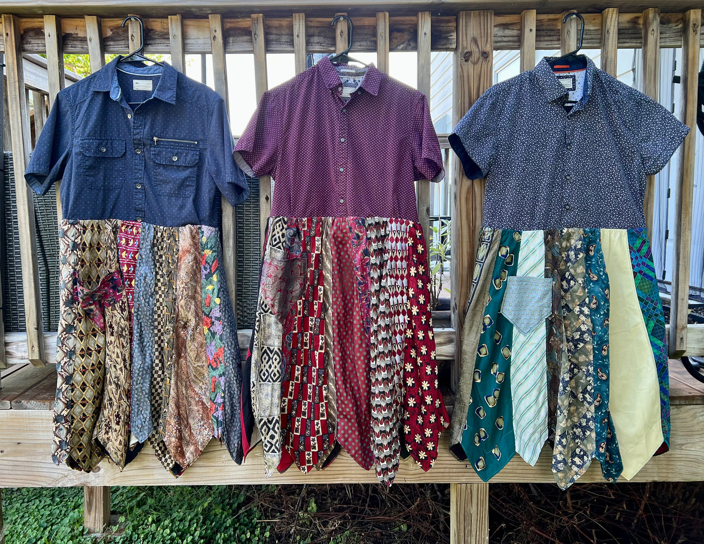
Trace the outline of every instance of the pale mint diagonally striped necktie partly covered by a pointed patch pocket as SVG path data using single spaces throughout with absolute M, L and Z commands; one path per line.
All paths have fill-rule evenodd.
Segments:
M 541 230 L 521 234 L 516 277 L 544 280 L 545 240 Z M 550 282 L 550 280 L 547 280 Z M 549 291 L 548 291 L 549 296 Z M 522 308 L 526 311 L 526 308 Z M 549 310 L 549 307 L 548 307 Z M 548 382 L 546 378 L 546 325 L 544 316 L 528 334 L 513 329 L 511 398 L 516 452 L 535 465 L 548 438 Z

